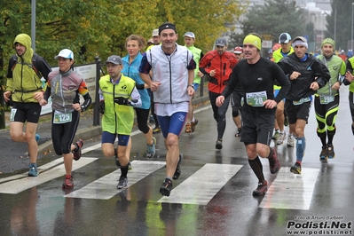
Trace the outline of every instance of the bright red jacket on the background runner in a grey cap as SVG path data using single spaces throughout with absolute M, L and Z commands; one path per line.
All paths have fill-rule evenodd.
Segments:
M 199 63 L 199 69 L 203 74 L 209 75 L 211 70 L 216 70 L 214 77 L 209 75 L 208 90 L 222 93 L 230 80 L 232 68 L 238 62 L 235 55 L 230 51 L 225 51 L 221 56 L 216 50 L 208 51 Z

